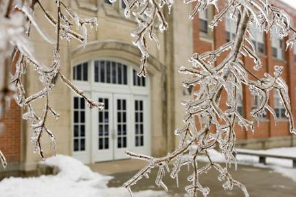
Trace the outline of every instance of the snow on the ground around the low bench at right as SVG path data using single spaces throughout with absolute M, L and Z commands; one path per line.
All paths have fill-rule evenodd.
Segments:
M 291 148 L 273 148 L 268 150 L 244 150 L 244 149 L 237 149 L 239 151 L 247 151 L 247 152 L 258 152 L 264 154 L 271 154 L 271 155 L 282 155 L 282 156 L 290 156 L 296 157 L 296 147 Z M 225 159 L 220 152 L 216 150 L 211 150 L 209 152 L 211 159 L 214 162 L 224 163 Z M 199 157 L 199 161 L 208 162 L 206 156 Z M 259 163 L 259 158 L 255 156 L 243 155 L 238 154 L 236 156 L 236 160 L 238 164 L 241 165 L 253 165 L 255 167 L 269 167 L 273 169 L 275 172 L 282 174 L 288 178 L 291 178 L 293 181 L 296 182 L 296 168 L 293 168 L 293 161 L 289 159 L 275 159 L 275 158 L 266 158 L 266 165 Z

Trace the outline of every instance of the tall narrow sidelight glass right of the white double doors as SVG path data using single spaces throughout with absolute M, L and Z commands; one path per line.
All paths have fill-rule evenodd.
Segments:
M 135 100 L 135 146 L 144 146 L 144 108 L 142 100 Z

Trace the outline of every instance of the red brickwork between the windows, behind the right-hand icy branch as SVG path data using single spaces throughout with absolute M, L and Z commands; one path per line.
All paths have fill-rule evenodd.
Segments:
M 218 1 L 220 3 L 219 10 L 222 10 L 224 6 L 222 5 L 222 1 Z M 275 2 L 274 5 L 277 3 Z M 280 3 L 279 7 L 284 9 L 284 4 Z M 212 8 L 210 8 L 212 9 Z M 214 10 L 214 9 L 213 9 Z M 216 10 L 215 10 L 216 13 Z M 296 24 L 296 11 L 294 13 L 288 13 L 293 16 L 294 24 Z M 211 21 L 211 20 L 209 20 Z M 203 34 L 199 32 L 199 19 L 196 16 L 193 20 L 193 40 L 194 40 L 194 52 L 198 52 L 201 54 L 210 49 L 214 49 L 226 43 L 226 34 L 225 34 L 225 21 L 221 21 L 219 25 L 214 29 L 212 38 L 209 37 L 207 39 L 204 38 Z M 265 35 L 265 55 L 261 56 L 261 60 L 263 63 L 262 69 L 260 71 L 255 71 L 255 75 L 259 77 L 263 77 L 265 72 L 269 72 L 273 74 L 273 67 L 275 65 L 280 65 L 284 67 L 284 72 L 282 73 L 282 78 L 286 81 L 289 86 L 289 95 L 291 98 L 291 107 L 293 111 L 293 115 L 296 118 L 296 99 L 295 99 L 295 89 L 296 89 L 296 64 L 293 56 L 293 50 L 286 51 L 286 60 L 276 60 L 272 57 L 271 51 L 271 39 L 270 35 Z M 222 54 L 220 58 L 218 58 L 218 62 L 225 58 L 226 54 Z M 253 60 L 251 58 L 243 58 L 245 65 L 253 70 Z M 249 89 L 247 86 L 243 87 L 243 100 L 242 105 L 244 106 L 244 117 L 247 119 L 251 119 L 251 108 L 253 105 L 253 96 L 249 93 Z M 222 103 L 225 103 L 226 93 L 222 95 Z M 270 95 L 269 104 L 273 106 L 273 93 Z M 222 106 L 223 107 L 223 106 Z M 213 129 L 213 128 L 212 128 Z M 260 122 L 260 125 L 257 126 L 255 124 L 255 132 L 252 133 L 250 130 L 246 131 L 240 126 L 236 126 L 236 137 L 237 139 L 258 139 L 258 138 L 266 138 L 266 137 L 284 137 L 291 136 L 288 130 L 288 121 L 286 119 L 282 119 L 277 121 L 275 126 L 275 121 L 270 113 L 267 115 L 267 119 Z

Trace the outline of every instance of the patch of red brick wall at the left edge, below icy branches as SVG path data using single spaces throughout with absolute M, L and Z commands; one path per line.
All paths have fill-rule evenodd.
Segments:
M 0 132 L 0 150 L 8 164 L 18 163 L 21 156 L 21 108 L 12 100 L 3 116 L 4 128 Z

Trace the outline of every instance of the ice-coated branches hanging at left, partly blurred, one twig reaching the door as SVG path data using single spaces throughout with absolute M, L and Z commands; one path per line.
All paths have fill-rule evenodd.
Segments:
M 60 43 L 61 39 L 65 38 L 68 42 L 71 38 L 76 38 L 80 42 L 87 42 L 88 30 L 87 27 L 97 28 L 98 21 L 95 18 L 82 19 L 76 12 L 71 10 L 61 0 L 56 1 L 56 16 L 43 7 L 42 1 L 0 1 L 0 68 L 3 68 L 5 78 L 1 77 L 0 82 L 0 112 L 1 115 L 10 97 L 14 95 L 16 103 L 25 108 L 23 119 L 31 121 L 31 128 L 33 135 L 31 141 L 33 143 L 34 152 L 38 152 L 41 157 L 44 157 L 41 148 L 42 133 L 47 133 L 52 148 L 55 146 L 55 137 L 53 133 L 46 126 L 46 119 L 48 113 L 52 114 L 56 119 L 59 115 L 54 111 L 52 106 L 49 106 L 49 94 L 54 89 L 55 80 L 58 74 L 64 82 L 74 93 L 77 93 L 89 103 L 90 108 L 103 108 L 104 104 L 91 101 L 84 93 L 76 88 L 65 76 L 60 73 Z M 45 14 L 45 18 L 51 23 L 56 30 L 56 39 L 51 38 L 47 32 L 38 24 L 38 20 L 34 16 L 34 10 L 41 8 Z M 65 12 L 65 13 L 64 13 Z M 73 22 L 72 22 L 73 21 Z M 74 29 L 73 26 L 76 25 Z M 52 45 L 53 57 L 50 65 L 43 65 L 35 56 L 32 49 L 29 47 L 30 32 L 35 28 L 36 32 L 45 40 L 45 42 Z M 80 32 L 78 32 L 80 30 Z M 12 65 L 14 73 L 10 71 Z M 23 85 L 23 78 L 27 76 L 27 68 L 32 67 L 38 73 L 38 82 L 42 84 L 42 89 L 38 90 L 32 95 L 27 95 Z M 2 70 L 1 70 L 2 74 Z M 34 111 L 32 103 L 36 100 L 45 98 L 45 106 L 41 115 Z M 4 102 L 5 101 L 5 102 Z M 0 116 L 1 118 L 1 116 Z M 3 165 L 6 164 L 3 154 L 1 153 L 1 160 Z

